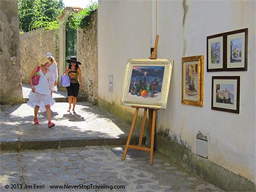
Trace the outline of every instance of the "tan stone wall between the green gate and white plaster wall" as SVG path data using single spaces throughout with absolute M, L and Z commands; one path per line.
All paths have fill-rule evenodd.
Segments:
M 78 30 L 78 60 L 82 63 L 83 88 L 80 92 L 93 104 L 98 104 L 98 39 L 97 12 L 92 16 L 91 25 Z

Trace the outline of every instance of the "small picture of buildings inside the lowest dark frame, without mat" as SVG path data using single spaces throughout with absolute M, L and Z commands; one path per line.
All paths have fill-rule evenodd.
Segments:
M 234 103 L 234 85 L 233 84 L 216 84 L 216 102 L 217 103 Z

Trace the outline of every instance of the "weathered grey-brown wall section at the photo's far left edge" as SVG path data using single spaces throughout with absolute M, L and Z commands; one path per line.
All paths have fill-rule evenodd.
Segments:
M 17 1 L 0 1 L 1 103 L 16 103 L 22 98 L 20 84 L 19 25 Z

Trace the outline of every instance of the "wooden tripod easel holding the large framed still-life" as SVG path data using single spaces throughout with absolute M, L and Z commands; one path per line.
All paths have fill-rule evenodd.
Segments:
M 157 57 L 158 38 L 159 38 L 159 35 L 156 36 L 154 51 L 152 52 L 152 55 L 151 55 L 150 59 L 156 59 L 156 57 Z M 153 165 L 156 111 L 158 110 L 158 108 L 149 108 L 149 107 L 145 107 L 145 106 L 135 106 L 135 105 L 132 105 L 131 107 L 136 108 L 136 111 L 135 111 L 135 114 L 133 116 L 133 122 L 132 122 L 132 126 L 131 126 L 129 136 L 128 136 L 127 141 L 126 141 L 126 145 L 125 145 L 125 148 L 124 148 L 122 160 L 125 159 L 128 148 L 134 148 L 136 150 L 142 150 L 142 151 L 150 152 L 150 165 Z M 130 141 L 131 141 L 131 138 L 132 138 L 134 126 L 135 126 L 137 116 L 138 116 L 138 113 L 139 113 L 139 109 L 144 109 L 144 115 L 143 115 L 143 119 L 142 119 L 141 130 L 140 130 L 139 143 L 138 143 L 138 145 L 130 145 Z M 148 110 L 148 117 L 149 117 L 148 119 L 150 120 L 150 148 L 141 146 L 142 145 L 142 140 L 143 140 L 143 133 L 144 133 L 144 128 L 145 128 L 147 110 Z

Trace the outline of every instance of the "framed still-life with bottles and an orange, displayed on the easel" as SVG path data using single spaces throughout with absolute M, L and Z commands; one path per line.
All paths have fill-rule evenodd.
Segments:
M 120 105 L 166 109 L 173 59 L 128 59 Z

